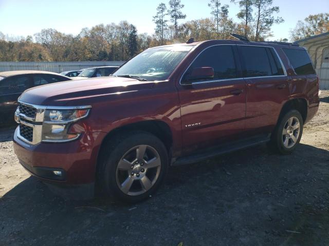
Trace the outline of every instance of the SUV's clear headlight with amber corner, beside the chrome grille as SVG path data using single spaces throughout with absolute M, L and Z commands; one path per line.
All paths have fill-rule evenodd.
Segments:
M 72 122 L 88 116 L 90 109 L 46 109 L 42 126 L 43 142 L 65 142 L 77 139 L 80 133 L 69 133 Z

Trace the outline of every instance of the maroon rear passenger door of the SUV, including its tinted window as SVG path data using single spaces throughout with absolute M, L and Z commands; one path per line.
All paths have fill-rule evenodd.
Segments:
M 237 46 L 247 85 L 246 132 L 260 135 L 272 131 L 289 96 L 288 77 L 272 47 Z

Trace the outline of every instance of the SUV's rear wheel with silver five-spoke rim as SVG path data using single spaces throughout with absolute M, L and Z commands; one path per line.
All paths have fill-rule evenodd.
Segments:
M 271 135 L 269 146 L 280 154 L 290 154 L 298 145 L 302 133 L 303 118 L 301 114 L 297 110 L 290 110 L 280 117 L 278 125 Z

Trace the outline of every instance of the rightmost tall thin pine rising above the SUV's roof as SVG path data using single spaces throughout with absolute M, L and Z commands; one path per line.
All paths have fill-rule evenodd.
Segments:
M 271 30 L 273 24 L 280 24 L 284 22 L 282 17 L 274 17 L 273 13 L 279 13 L 278 6 L 272 6 L 273 0 L 254 0 L 253 5 L 256 8 L 256 34 L 255 41 L 260 40 L 262 34 L 266 34 Z

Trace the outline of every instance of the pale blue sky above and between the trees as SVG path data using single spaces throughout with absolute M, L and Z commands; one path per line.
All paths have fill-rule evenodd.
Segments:
M 127 20 L 137 27 L 138 33 L 152 34 L 155 28 L 152 16 L 161 2 L 168 7 L 169 0 L 0 0 L 0 31 L 10 36 L 27 36 L 44 28 L 54 28 L 76 35 L 84 27 Z M 209 2 L 181 0 L 185 5 L 182 9 L 187 15 L 185 20 L 210 17 Z M 229 16 L 237 20 L 239 5 L 230 0 L 221 0 L 221 3 L 230 5 Z M 298 20 L 329 11 L 329 0 L 273 0 L 273 5 L 280 7 L 278 15 L 285 22 L 272 27 L 273 37 L 269 40 L 289 39 L 289 30 Z M 184 20 L 180 20 L 182 22 Z

